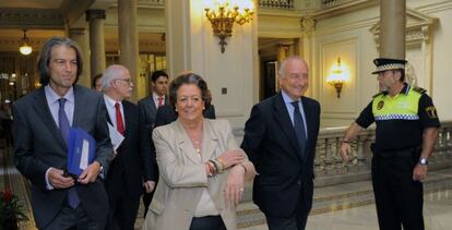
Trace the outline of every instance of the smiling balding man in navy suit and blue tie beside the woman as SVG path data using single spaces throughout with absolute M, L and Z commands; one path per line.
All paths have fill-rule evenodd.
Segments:
M 320 105 L 304 96 L 309 72 L 299 57 L 282 62 L 279 85 L 281 93 L 252 108 L 241 148 L 259 173 L 253 201 L 270 230 L 300 230 L 312 206 Z

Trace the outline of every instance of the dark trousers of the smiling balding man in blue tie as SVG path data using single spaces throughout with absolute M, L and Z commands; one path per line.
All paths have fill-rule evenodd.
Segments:
M 300 198 L 302 199 L 302 196 Z M 305 230 L 309 210 L 302 205 L 302 201 L 298 204 L 297 211 L 293 216 L 281 218 L 265 215 L 269 230 Z

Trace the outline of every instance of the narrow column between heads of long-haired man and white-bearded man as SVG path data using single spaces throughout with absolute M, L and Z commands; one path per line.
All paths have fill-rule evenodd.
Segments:
M 86 11 L 86 21 L 90 23 L 91 77 L 105 70 L 105 10 Z

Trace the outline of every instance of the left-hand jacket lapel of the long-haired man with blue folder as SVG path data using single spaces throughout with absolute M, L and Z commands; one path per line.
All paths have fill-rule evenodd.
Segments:
M 50 130 L 50 133 L 58 140 L 61 146 L 67 147 L 64 140 L 60 134 L 60 130 L 57 126 L 53 117 L 51 116 L 49 106 L 47 105 L 46 93 L 44 92 L 44 86 L 40 87 L 35 94 L 35 100 L 33 102 L 33 107 L 36 110 L 36 113 L 43 120 L 44 124 Z

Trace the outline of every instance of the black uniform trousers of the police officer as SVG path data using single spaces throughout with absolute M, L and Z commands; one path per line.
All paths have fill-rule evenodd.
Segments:
M 372 158 L 372 185 L 381 230 L 424 230 L 423 183 L 413 181 L 418 157 Z

